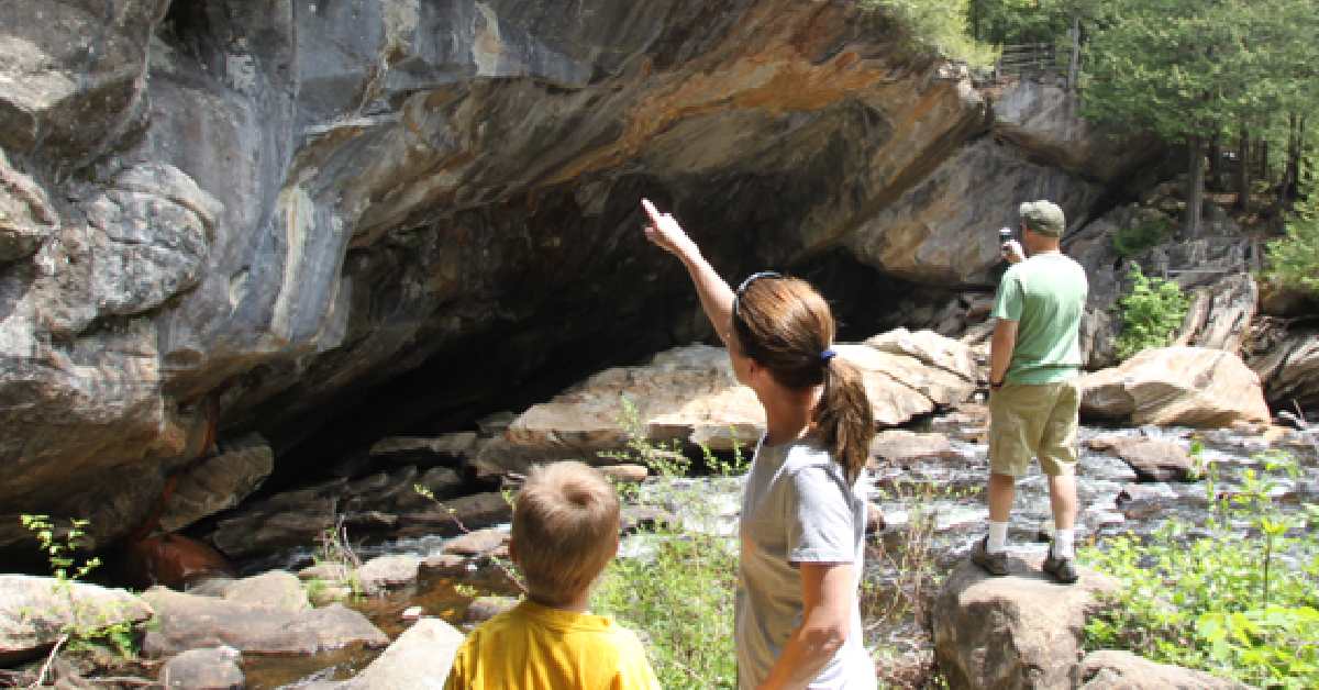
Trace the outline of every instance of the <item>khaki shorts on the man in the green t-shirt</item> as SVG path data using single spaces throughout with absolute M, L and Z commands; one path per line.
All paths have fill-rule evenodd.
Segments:
M 1030 458 L 1049 476 L 1076 470 L 1075 380 L 1051 384 L 1004 384 L 989 393 L 989 471 L 1024 476 Z

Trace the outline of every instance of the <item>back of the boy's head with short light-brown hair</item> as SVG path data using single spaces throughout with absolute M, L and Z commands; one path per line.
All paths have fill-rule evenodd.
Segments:
M 513 501 L 513 548 L 528 594 L 559 606 L 586 591 L 617 550 L 619 496 L 579 462 L 536 466 Z

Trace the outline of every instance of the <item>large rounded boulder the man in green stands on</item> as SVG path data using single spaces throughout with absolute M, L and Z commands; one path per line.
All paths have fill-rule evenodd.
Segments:
M 1001 578 L 963 561 L 944 580 L 931 617 L 950 687 L 1070 687 L 1086 616 L 1117 583 L 1083 569 L 1078 583 L 1057 584 L 1039 561 L 1012 558 Z

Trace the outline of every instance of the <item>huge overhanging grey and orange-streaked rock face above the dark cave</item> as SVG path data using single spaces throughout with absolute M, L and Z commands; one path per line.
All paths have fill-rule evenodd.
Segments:
M 5 3 L 0 505 L 106 544 L 216 433 L 365 447 L 690 342 L 641 194 L 728 276 L 845 248 L 989 285 L 1016 202 L 1079 222 L 1112 156 L 1041 165 L 1053 95 L 993 124 L 909 45 L 853 3 Z

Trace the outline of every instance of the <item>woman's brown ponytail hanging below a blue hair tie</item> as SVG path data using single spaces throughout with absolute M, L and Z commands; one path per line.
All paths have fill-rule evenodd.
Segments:
M 861 373 L 840 358 L 824 361 L 824 394 L 815 406 L 815 427 L 820 441 L 843 466 L 848 484 L 865 468 L 874 438 L 874 414 L 865 394 Z

